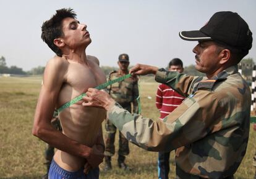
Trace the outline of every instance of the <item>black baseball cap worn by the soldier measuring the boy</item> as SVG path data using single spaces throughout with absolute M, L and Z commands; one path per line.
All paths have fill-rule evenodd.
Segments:
M 181 31 L 179 36 L 186 41 L 216 41 L 235 49 L 252 48 L 252 32 L 236 12 L 216 12 L 200 30 Z

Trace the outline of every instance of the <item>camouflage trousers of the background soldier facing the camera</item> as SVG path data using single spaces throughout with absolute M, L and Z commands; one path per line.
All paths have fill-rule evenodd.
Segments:
M 125 106 L 124 109 L 130 112 L 130 106 Z M 114 146 L 114 139 L 116 136 L 116 126 L 112 124 L 109 120 L 106 120 L 105 123 L 106 129 L 106 149 L 105 149 L 105 156 L 114 156 L 115 153 L 115 146 Z M 119 131 L 119 149 L 118 154 L 119 156 L 127 156 L 130 153 L 129 150 L 129 141 L 122 135 Z

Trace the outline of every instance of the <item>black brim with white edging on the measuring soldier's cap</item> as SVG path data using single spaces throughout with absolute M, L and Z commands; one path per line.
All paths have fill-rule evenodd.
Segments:
M 185 41 L 209 41 L 212 40 L 200 31 L 180 31 L 179 36 Z

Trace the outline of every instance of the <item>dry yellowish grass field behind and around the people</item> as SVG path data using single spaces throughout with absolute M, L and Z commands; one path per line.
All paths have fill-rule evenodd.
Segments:
M 40 178 L 45 174 L 45 143 L 32 135 L 33 115 L 40 86 L 40 77 L 0 77 L 0 178 Z M 151 82 L 150 79 L 143 79 L 140 83 L 142 115 L 145 117 L 156 119 L 159 116 L 155 108 L 157 86 L 158 84 Z M 252 157 L 256 151 L 255 136 L 256 132 L 250 130 L 247 153 L 235 178 L 254 176 Z M 173 158 L 172 152 L 169 178 L 175 176 Z M 147 152 L 131 143 L 126 161 L 132 167 L 132 171 L 124 172 L 118 169 L 116 155 L 112 161 L 113 170 L 101 170 L 100 178 L 157 178 L 157 153 Z M 101 164 L 100 168 L 103 167 Z

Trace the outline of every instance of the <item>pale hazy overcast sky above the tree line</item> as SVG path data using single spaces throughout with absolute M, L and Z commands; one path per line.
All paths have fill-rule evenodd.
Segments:
M 181 30 L 198 30 L 215 12 L 237 12 L 248 23 L 254 42 L 247 57 L 256 60 L 256 1 L 239 0 L 94 0 L 94 1 L 0 1 L 0 57 L 7 66 L 23 70 L 45 66 L 54 53 L 41 40 L 41 25 L 55 10 L 71 7 L 80 23 L 87 24 L 92 43 L 87 55 L 102 66 L 117 66 L 119 54 L 130 64 L 167 66 L 172 58 L 184 65 L 195 63 L 192 48 L 197 42 L 179 38 Z

